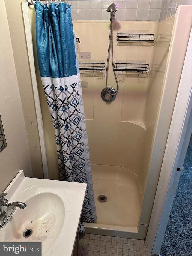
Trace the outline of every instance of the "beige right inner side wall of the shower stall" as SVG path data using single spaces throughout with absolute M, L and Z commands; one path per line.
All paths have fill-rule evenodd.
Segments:
M 164 78 L 167 72 L 167 58 L 170 51 L 170 42 L 173 32 L 175 16 L 172 16 L 158 23 L 156 34 L 156 44 L 154 46 L 154 56 L 151 68 L 151 79 L 147 95 L 144 122 L 146 126 L 146 143 L 144 147 L 143 172 L 141 174 L 142 188 L 145 186 L 147 172 L 149 170 L 149 159 L 152 151 L 152 143 L 155 132 L 155 125 L 158 122 L 158 110 L 161 103 L 162 92 L 165 86 Z M 164 41 L 159 35 L 169 35 Z M 158 161 L 158 160 L 157 160 Z

